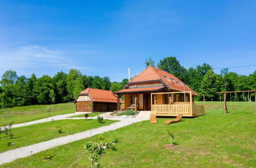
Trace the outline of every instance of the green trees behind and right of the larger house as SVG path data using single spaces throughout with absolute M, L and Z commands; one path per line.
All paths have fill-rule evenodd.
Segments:
M 146 67 L 151 65 L 155 67 L 155 62 L 149 58 L 145 61 Z M 195 68 L 188 69 L 180 65 L 176 57 L 167 57 L 157 64 L 157 68 L 171 73 L 186 83 L 192 90 L 204 94 L 207 101 L 219 101 L 220 97 L 217 92 L 223 91 L 246 91 L 256 90 L 256 70 L 250 75 L 240 75 L 235 72 L 229 72 L 228 68 L 221 70 L 216 74 L 209 64 L 198 65 Z M 248 98 L 249 97 L 249 98 Z M 199 95 L 197 100 L 202 100 Z M 254 93 L 239 93 L 227 95 L 227 100 L 253 101 Z

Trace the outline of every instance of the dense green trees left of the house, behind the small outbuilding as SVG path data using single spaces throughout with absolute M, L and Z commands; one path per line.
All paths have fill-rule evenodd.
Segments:
M 68 74 L 61 71 L 53 77 L 43 75 L 39 78 L 35 74 L 26 78 L 7 70 L 0 80 L 0 107 L 71 102 L 86 88 L 115 92 L 121 90 L 127 81 L 111 82 L 108 76 L 87 76 L 77 69 L 71 69 Z

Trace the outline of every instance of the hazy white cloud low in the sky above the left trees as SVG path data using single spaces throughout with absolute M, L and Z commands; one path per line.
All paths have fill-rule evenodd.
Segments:
M 38 71 L 60 71 L 70 70 L 72 68 L 81 71 L 87 71 L 91 68 L 79 66 L 79 64 L 69 57 L 64 57 L 66 53 L 60 50 L 52 50 L 44 46 L 28 45 L 19 47 L 8 47 L 0 50 L 0 74 L 6 70 L 12 69 L 23 73 L 30 71 L 35 73 Z M 44 72 L 40 72 L 44 73 Z

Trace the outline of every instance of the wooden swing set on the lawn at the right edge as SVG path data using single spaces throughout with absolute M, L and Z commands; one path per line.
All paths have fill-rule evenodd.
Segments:
M 251 91 L 232 91 L 232 92 L 217 92 L 218 94 L 220 94 L 220 101 L 221 101 L 221 94 L 223 94 L 223 100 L 224 100 L 224 110 L 223 110 L 223 113 L 226 114 L 228 113 L 228 110 L 227 110 L 227 101 L 226 101 L 226 95 L 227 93 L 230 94 L 230 102 L 231 102 L 231 106 L 232 106 L 232 96 L 231 96 L 231 93 L 234 93 L 234 98 L 235 98 L 235 101 L 236 101 L 236 105 L 235 106 L 232 106 L 231 109 L 237 109 L 237 93 L 243 93 L 243 102 L 244 102 L 244 109 L 245 110 L 249 110 L 249 105 L 248 106 L 245 106 L 245 103 L 246 103 L 246 97 L 244 96 L 244 93 L 245 92 L 248 92 L 248 102 L 249 102 L 249 93 L 250 92 L 254 92 L 254 115 L 256 115 L 256 90 L 251 90 Z

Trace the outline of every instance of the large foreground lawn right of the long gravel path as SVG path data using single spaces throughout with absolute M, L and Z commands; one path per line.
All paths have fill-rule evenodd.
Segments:
M 205 116 L 185 118 L 170 125 L 162 124 L 168 119 L 158 119 L 158 124 L 143 121 L 105 132 L 103 142 L 117 136 L 122 137 L 123 142 L 116 145 L 117 151 L 108 151 L 99 162 L 103 167 L 255 167 L 253 103 L 250 103 L 250 110 L 244 110 L 243 103 L 239 102 L 237 110 L 229 106 L 230 113 L 222 115 L 219 102 L 206 102 Z M 174 134 L 174 142 L 178 144 L 171 150 L 164 148 L 169 144 L 167 130 Z M 97 139 L 95 135 L 2 167 L 90 167 L 90 154 L 83 145 Z M 54 158 L 45 161 L 43 156 L 50 151 Z

